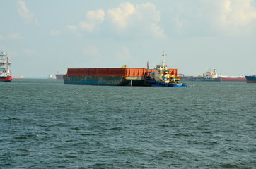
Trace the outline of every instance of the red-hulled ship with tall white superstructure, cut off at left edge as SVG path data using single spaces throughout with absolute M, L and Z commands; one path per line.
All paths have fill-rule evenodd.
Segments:
M 8 56 L 6 52 L 0 52 L 0 81 L 1 82 L 11 82 L 11 62 L 8 61 Z

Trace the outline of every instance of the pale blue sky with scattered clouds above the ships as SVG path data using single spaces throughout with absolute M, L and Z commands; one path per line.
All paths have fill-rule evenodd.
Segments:
M 13 76 L 68 68 L 256 74 L 256 0 L 0 0 L 0 51 Z

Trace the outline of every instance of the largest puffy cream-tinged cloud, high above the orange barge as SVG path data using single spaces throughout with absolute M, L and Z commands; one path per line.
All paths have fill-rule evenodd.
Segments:
M 152 3 L 131 4 L 121 3 L 117 8 L 108 10 L 110 22 L 119 32 L 133 32 L 136 35 L 153 35 L 165 37 L 160 23 L 160 12 Z

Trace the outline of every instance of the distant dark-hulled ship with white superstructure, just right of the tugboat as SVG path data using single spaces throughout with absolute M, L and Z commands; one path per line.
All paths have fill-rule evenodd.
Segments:
M 209 69 L 203 75 L 198 76 L 181 76 L 180 79 L 182 81 L 190 81 L 190 82 L 221 82 L 221 77 L 218 77 L 216 69 Z

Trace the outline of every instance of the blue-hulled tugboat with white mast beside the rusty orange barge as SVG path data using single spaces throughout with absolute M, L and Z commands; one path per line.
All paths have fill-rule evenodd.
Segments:
M 175 72 L 173 69 L 168 69 L 168 66 L 165 65 L 166 55 L 165 51 L 163 51 L 162 62 L 156 65 L 156 68 L 154 68 L 156 70 L 155 72 L 145 73 L 146 83 L 156 87 L 187 87 L 186 84 L 180 82 L 177 71 Z

